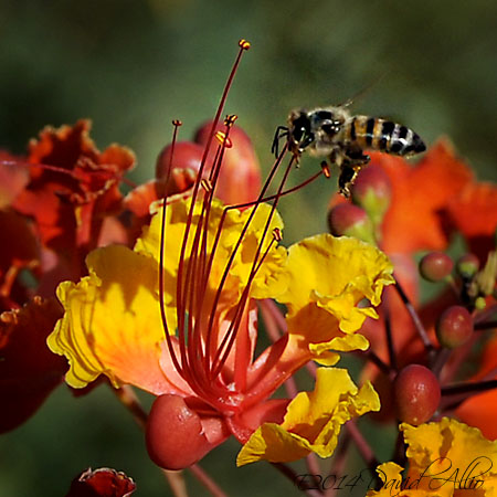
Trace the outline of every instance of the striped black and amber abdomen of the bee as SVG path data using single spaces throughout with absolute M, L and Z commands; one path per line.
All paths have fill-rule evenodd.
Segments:
M 419 154 L 426 149 L 412 129 L 378 117 L 356 116 L 347 127 L 346 139 L 361 149 L 385 151 L 399 156 Z

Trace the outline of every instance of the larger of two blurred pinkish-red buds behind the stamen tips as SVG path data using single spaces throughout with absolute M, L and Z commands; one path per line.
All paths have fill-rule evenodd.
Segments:
M 212 121 L 205 123 L 195 134 L 195 142 L 205 146 L 212 129 Z M 225 133 L 226 126 L 218 123 L 216 131 Z M 223 135 L 219 135 L 222 137 Z M 213 167 L 216 150 L 221 142 L 212 139 L 208 163 Z M 226 204 L 246 203 L 257 199 L 261 191 L 261 166 L 248 135 L 232 125 L 224 148 L 223 162 L 215 187 L 215 197 Z

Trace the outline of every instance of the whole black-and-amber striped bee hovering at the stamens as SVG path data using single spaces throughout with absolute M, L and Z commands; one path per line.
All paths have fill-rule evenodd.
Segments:
M 279 140 L 286 137 L 297 161 L 306 150 L 314 157 L 326 157 L 340 168 L 338 186 L 345 197 L 350 195 L 358 172 L 370 161 L 364 150 L 404 157 L 426 150 L 412 129 L 379 117 L 353 116 L 347 109 L 349 104 L 293 110 L 287 126 L 276 128 L 272 148 L 277 156 Z

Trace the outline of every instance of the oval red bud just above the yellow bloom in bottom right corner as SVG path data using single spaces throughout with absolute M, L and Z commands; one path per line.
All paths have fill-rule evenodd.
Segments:
M 438 380 L 421 364 L 406 366 L 396 376 L 394 393 L 399 419 L 414 426 L 433 416 L 441 399 Z

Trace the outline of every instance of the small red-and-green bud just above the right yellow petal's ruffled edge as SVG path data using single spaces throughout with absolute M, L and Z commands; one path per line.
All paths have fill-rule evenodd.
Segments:
M 358 205 L 343 202 L 332 207 L 328 212 L 329 231 L 335 236 L 355 236 L 376 244 L 374 232 L 368 213 Z

